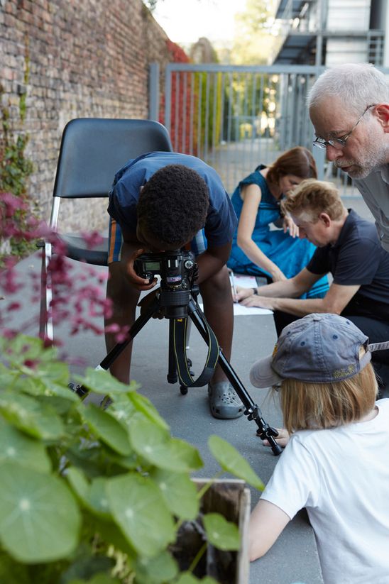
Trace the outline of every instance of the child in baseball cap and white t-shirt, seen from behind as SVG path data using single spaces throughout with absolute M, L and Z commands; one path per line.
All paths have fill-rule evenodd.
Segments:
M 351 321 L 309 314 L 285 326 L 250 372 L 280 392 L 287 443 L 250 520 L 251 561 L 306 507 L 324 583 L 389 583 L 389 399 Z

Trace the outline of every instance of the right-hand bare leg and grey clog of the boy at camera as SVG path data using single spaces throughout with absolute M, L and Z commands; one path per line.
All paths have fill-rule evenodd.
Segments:
M 204 302 L 204 314 L 209 326 L 217 336 L 219 346 L 227 360 L 231 359 L 232 334 L 234 330 L 234 305 L 232 302 L 229 272 L 226 265 L 200 285 Z M 208 386 L 209 407 L 212 416 L 222 419 L 238 418 L 243 414 L 243 404 L 226 379 L 220 365 Z

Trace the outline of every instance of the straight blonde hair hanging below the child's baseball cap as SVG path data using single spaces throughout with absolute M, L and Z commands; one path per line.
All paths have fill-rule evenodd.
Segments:
M 358 422 L 371 412 L 377 395 L 371 363 L 353 377 L 332 383 L 285 379 L 280 388 L 284 426 L 291 434 Z

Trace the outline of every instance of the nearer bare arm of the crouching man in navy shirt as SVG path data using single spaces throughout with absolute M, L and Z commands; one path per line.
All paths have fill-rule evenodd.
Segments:
M 276 282 L 283 284 L 284 282 Z M 305 300 L 295 298 L 270 298 L 263 296 L 250 296 L 242 300 L 241 304 L 247 307 L 261 307 L 272 310 L 280 310 L 295 316 L 305 316 L 312 312 L 330 312 L 341 314 L 351 298 L 358 292 L 360 286 L 342 286 L 334 284 L 324 298 L 309 298 Z M 262 290 L 260 288 L 259 290 Z

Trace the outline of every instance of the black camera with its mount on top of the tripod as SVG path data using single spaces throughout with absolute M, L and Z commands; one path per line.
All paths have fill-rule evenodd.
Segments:
M 168 319 L 187 316 L 190 294 L 197 293 L 197 263 L 195 254 L 187 250 L 142 253 L 134 262 L 138 276 L 150 282 L 160 276 L 160 306 Z

